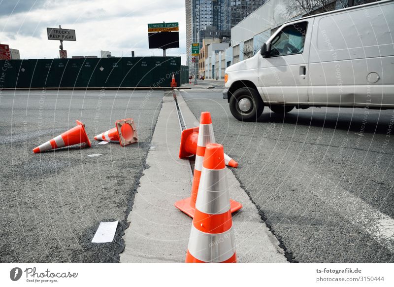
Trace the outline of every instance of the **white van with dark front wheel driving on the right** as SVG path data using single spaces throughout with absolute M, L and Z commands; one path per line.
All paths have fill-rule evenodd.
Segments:
M 297 19 L 226 69 L 223 97 L 238 120 L 264 106 L 394 108 L 393 39 L 394 0 Z

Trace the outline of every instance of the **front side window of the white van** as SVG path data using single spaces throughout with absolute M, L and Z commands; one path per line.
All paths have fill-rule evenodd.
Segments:
M 270 57 L 302 54 L 308 22 L 284 27 L 271 41 Z

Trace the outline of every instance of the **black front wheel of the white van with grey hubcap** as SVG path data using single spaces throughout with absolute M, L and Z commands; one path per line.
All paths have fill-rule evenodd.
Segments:
M 240 88 L 230 98 L 230 111 L 237 120 L 256 121 L 263 109 L 263 100 L 253 88 Z

